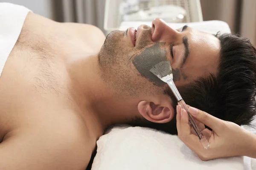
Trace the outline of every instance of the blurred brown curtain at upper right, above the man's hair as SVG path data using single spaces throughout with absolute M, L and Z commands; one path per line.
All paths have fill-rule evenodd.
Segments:
M 201 0 L 204 20 L 222 20 L 256 45 L 256 0 Z

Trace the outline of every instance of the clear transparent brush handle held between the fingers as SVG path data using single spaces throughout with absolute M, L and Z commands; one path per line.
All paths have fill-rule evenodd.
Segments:
M 200 139 L 201 144 L 203 145 L 203 147 L 205 149 L 207 149 L 209 147 L 209 143 L 207 141 L 207 139 L 205 138 L 204 134 L 202 133 L 202 131 L 200 130 L 200 127 L 196 124 L 195 120 L 193 119 L 193 117 L 190 115 L 189 113 L 189 108 L 186 106 L 186 103 L 184 102 L 183 99 L 181 99 L 178 102 L 178 105 L 181 106 L 181 108 L 185 109 L 186 112 L 189 115 L 189 123 L 190 125 L 193 127 L 193 129 L 195 130 L 196 135 L 198 136 L 198 138 Z

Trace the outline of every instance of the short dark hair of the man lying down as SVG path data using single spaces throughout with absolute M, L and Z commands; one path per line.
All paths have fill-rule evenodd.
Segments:
M 256 49 L 236 34 L 217 37 L 221 43 L 217 76 L 200 77 L 177 89 L 186 104 L 220 119 L 248 125 L 256 114 Z M 172 91 L 168 88 L 165 94 L 176 108 Z M 164 124 L 145 122 L 143 126 L 177 134 L 175 118 Z

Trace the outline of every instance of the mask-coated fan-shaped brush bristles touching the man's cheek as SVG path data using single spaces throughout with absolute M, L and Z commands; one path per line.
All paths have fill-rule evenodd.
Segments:
M 150 72 L 153 73 L 159 79 L 163 80 L 163 77 L 172 74 L 172 67 L 169 61 L 162 61 L 154 65 L 154 67 L 150 69 Z

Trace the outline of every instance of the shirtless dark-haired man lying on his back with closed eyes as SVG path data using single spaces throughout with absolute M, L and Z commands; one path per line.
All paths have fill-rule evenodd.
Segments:
M 117 123 L 175 133 L 176 101 L 149 72 L 167 59 L 187 104 L 247 124 L 255 57 L 244 38 L 175 30 L 160 19 L 105 39 L 94 26 L 29 12 L 0 77 L 0 169 L 83 170 Z

